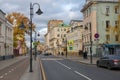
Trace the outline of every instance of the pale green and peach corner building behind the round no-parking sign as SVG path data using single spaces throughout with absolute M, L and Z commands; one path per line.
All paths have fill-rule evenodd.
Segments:
M 84 50 L 88 54 L 101 56 L 106 48 L 114 54 L 120 47 L 118 26 L 118 0 L 86 0 L 81 12 L 84 15 Z M 114 48 L 117 46 L 117 48 Z

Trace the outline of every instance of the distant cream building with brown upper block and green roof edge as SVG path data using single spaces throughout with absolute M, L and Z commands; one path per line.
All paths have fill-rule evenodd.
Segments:
M 47 49 L 54 55 L 66 53 L 66 34 L 69 25 L 62 20 L 50 20 L 48 22 L 48 33 L 45 35 Z

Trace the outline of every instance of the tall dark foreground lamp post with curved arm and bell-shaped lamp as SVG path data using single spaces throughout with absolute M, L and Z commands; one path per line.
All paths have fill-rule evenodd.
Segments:
M 30 3 L 30 70 L 29 72 L 33 72 L 32 70 L 32 18 L 33 18 L 33 7 L 34 5 L 38 5 L 38 11 L 36 14 L 41 15 L 43 12 L 40 10 L 40 5 L 38 3 Z

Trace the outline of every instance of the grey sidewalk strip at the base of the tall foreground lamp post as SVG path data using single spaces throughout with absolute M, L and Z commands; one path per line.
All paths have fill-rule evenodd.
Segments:
M 36 60 L 33 59 L 32 70 L 33 72 L 29 72 L 28 67 L 20 80 L 42 80 L 39 58 L 37 58 Z

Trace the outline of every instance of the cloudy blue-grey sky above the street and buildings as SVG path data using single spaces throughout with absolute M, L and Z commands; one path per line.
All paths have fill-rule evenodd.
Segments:
M 12 12 L 20 12 L 29 18 L 30 2 L 39 3 L 42 15 L 35 14 L 38 5 L 34 5 L 33 23 L 36 25 L 37 32 L 40 33 L 40 39 L 47 30 L 49 20 L 60 19 L 64 23 L 69 24 L 70 20 L 82 19 L 81 8 L 85 4 L 85 0 L 0 0 L 0 9 L 6 14 Z

